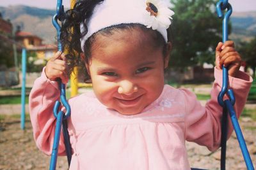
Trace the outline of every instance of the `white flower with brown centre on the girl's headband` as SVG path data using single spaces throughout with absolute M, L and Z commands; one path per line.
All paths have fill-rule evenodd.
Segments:
M 147 10 L 147 27 L 156 30 L 158 27 L 164 27 L 168 29 L 171 25 L 172 15 L 174 12 L 170 10 L 170 0 L 147 0 L 146 1 Z

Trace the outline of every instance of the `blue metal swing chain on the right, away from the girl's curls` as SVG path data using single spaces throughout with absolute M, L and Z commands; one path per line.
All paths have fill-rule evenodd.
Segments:
M 223 10 L 226 10 L 227 12 L 225 13 L 223 17 Z M 230 17 L 232 13 L 232 6 L 228 3 L 227 0 L 220 0 L 216 4 L 216 11 L 218 14 L 219 18 L 223 17 L 223 43 L 228 40 L 228 18 Z M 237 140 L 239 142 L 239 146 L 241 148 L 241 151 L 243 153 L 244 161 L 246 163 L 247 169 L 253 170 L 253 164 L 252 164 L 252 159 L 250 158 L 248 149 L 246 147 L 246 143 L 244 141 L 243 134 L 241 132 L 241 129 L 239 127 L 239 123 L 237 121 L 236 117 L 236 112 L 234 111 L 234 104 L 236 102 L 234 92 L 232 89 L 228 89 L 228 67 L 222 67 L 223 69 L 223 83 L 222 83 L 222 88 L 221 92 L 218 95 L 218 103 L 220 106 L 223 107 L 223 119 L 221 122 L 221 170 L 225 170 L 225 158 L 226 158 L 226 143 L 227 143 L 227 113 L 229 113 L 232 125 L 234 127 L 234 130 L 236 132 Z M 226 99 L 223 101 L 223 97 L 227 94 L 229 99 Z

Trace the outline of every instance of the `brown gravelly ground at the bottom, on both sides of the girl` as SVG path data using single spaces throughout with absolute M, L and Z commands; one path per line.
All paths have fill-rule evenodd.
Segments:
M 256 164 L 256 122 L 250 118 L 241 118 L 241 129 Z M 187 143 L 191 167 L 220 169 L 220 150 L 209 152 L 205 147 Z M 26 120 L 26 130 L 20 130 L 19 118 L 0 119 L 0 169 L 49 169 L 50 157 L 40 152 L 33 140 L 31 123 Z M 246 169 L 236 135 L 227 143 L 227 169 Z M 58 157 L 56 169 L 68 169 L 66 157 Z

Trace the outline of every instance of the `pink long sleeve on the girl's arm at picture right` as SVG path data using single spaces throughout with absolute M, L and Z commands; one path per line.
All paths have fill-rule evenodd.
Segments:
M 196 100 L 195 94 L 184 89 L 184 97 L 187 117 L 186 122 L 186 140 L 194 141 L 199 145 L 207 146 L 209 150 L 216 150 L 220 147 L 221 139 L 221 117 L 223 108 L 218 104 L 218 94 L 221 91 L 222 85 L 222 71 L 215 69 L 213 88 L 211 91 L 211 99 L 201 106 L 199 101 Z M 241 115 L 248 93 L 252 78 L 246 73 L 240 72 L 237 78 L 229 76 L 230 88 L 234 90 L 236 103 L 234 110 L 237 117 Z M 228 116 L 228 138 L 233 131 L 232 123 Z

